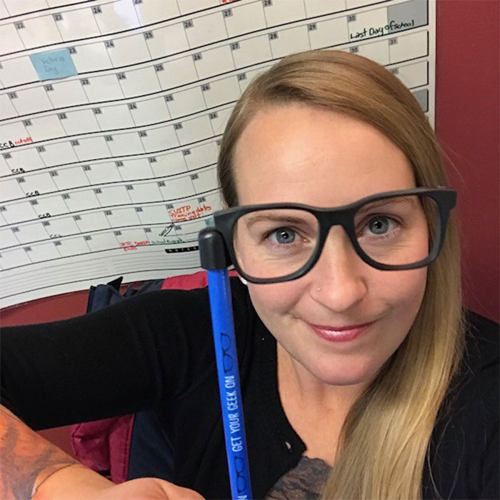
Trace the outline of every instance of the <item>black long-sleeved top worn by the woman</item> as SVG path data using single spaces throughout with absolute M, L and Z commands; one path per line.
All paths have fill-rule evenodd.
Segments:
M 284 414 L 276 341 L 246 286 L 231 281 L 254 498 L 294 468 L 306 446 Z M 424 499 L 499 499 L 499 329 L 468 313 L 460 384 L 446 396 Z M 136 295 L 65 321 L 1 331 L 1 403 L 32 429 L 152 409 L 174 449 L 174 482 L 230 498 L 206 288 Z M 446 411 L 445 411 L 446 409 Z

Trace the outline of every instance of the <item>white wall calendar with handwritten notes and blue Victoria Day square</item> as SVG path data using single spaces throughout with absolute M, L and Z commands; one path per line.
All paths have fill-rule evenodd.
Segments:
M 431 0 L 0 0 L 0 306 L 200 268 L 219 140 L 251 79 L 339 49 L 434 124 Z

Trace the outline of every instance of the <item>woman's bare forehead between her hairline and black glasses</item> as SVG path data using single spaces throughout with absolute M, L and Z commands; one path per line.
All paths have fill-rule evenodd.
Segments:
M 303 104 L 263 109 L 234 153 L 240 204 L 338 206 L 414 186 L 404 153 L 374 126 Z

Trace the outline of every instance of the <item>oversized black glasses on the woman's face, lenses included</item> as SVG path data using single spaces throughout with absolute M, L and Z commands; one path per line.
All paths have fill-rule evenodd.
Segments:
M 341 225 L 359 257 L 383 271 L 427 266 L 439 254 L 456 191 L 413 188 L 331 209 L 294 203 L 236 206 L 214 214 L 231 261 L 248 281 L 280 283 L 318 261 L 331 226 Z

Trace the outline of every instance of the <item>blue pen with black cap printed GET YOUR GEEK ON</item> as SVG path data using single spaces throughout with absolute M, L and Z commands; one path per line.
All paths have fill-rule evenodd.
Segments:
M 209 298 L 214 330 L 222 420 L 233 500 L 250 500 L 249 460 L 246 454 L 243 401 L 239 384 L 233 308 L 227 267 L 231 264 L 221 234 L 202 229 L 198 237 L 201 266 L 209 278 Z

